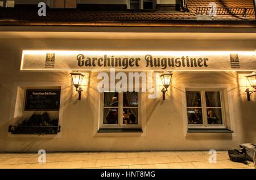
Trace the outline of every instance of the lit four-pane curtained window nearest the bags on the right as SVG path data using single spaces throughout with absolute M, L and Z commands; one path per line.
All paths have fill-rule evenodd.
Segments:
M 188 127 L 225 128 L 222 91 L 186 91 Z

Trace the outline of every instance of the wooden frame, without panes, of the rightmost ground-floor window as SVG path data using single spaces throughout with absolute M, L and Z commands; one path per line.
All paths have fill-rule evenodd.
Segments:
M 200 92 L 201 94 L 201 107 L 192 107 L 192 106 L 187 106 L 187 92 Z M 220 107 L 208 107 L 207 102 L 206 102 L 206 92 L 220 92 Z M 225 114 L 225 103 L 224 103 L 224 89 L 220 88 L 185 88 L 185 106 L 186 106 L 186 118 L 187 118 L 187 125 L 188 128 L 227 128 L 226 127 L 226 114 Z M 202 109 L 202 118 L 203 118 L 203 124 L 202 125 L 190 125 L 188 123 L 188 113 L 187 109 L 188 108 L 201 108 Z M 222 119 L 222 125 L 208 125 L 208 119 L 207 119 L 207 109 L 208 108 L 218 108 L 221 109 L 221 119 Z

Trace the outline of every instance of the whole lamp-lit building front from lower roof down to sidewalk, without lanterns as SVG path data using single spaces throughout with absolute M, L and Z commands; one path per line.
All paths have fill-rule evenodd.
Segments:
M 204 3 L 187 3 L 185 12 L 52 9 L 44 17 L 2 8 L 0 151 L 255 144 L 256 97 L 248 101 L 245 92 L 253 91 L 246 75 L 256 70 L 253 1 L 243 2 L 247 14 L 207 17 L 196 11 Z M 84 75 L 81 100 L 75 70 Z M 172 78 L 163 100 L 166 70 Z

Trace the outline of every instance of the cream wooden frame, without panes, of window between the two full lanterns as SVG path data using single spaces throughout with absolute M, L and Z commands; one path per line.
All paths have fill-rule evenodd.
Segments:
M 114 91 L 105 91 L 105 92 L 114 92 Z M 104 108 L 117 108 L 116 106 L 104 106 L 104 93 L 101 93 L 101 105 L 100 105 L 100 129 L 101 128 L 141 128 L 141 93 L 138 93 L 138 106 L 137 107 L 128 107 L 123 106 L 123 93 L 118 92 L 118 124 L 104 124 Z M 125 125 L 123 124 L 123 108 L 136 108 L 138 109 L 138 118 L 137 124 Z

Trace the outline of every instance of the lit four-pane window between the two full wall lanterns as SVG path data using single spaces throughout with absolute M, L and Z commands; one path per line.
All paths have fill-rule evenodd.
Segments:
M 139 127 L 137 92 L 104 92 L 101 127 Z

